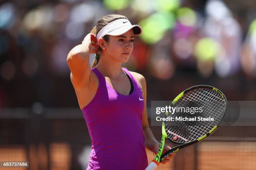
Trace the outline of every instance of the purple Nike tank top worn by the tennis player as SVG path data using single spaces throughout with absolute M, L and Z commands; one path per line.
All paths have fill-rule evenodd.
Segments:
M 148 165 L 141 87 L 126 68 L 122 69 L 133 83 L 130 95 L 115 91 L 99 70 L 92 68 L 99 86 L 92 101 L 82 108 L 92 140 L 87 170 L 145 170 Z

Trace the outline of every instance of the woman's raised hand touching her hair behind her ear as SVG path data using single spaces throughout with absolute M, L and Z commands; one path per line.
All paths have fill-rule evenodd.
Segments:
M 82 41 L 83 45 L 88 45 L 90 54 L 96 54 L 100 50 L 100 46 L 97 43 L 97 37 L 95 34 L 87 34 Z

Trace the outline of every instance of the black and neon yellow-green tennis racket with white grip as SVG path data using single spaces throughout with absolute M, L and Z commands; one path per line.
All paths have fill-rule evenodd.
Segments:
M 227 108 L 227 99 L 225 95 L 215 87 L 208 85 L 197 85 L 180 93 L 173 101 L 172 107 L 190 108 L 198 107 L 202 112 L 197 112 L 194 115 L 187 112 L 175 112 L 174 114 L 166 112 L 164 118 L 186 117 L 183 121 L 163 121 L 162 122 L 162 138 L 159 147 L 159 153 L 154 160 L 148 165 L 146 170 L 155 170 L 159 163 L 164 160 L 164 156 L 169 156 L 171 153 L 176 153 L 182 148 L 199 143 L 211 135 L 220 125 L 223 120 Z M 189 110 L 189 109 L 188 109 Z M 194 109 L 193 109 L 194 110 Z M 188 121 L 189 118 L 212 117 L 212 121 Z M 163 154 L 165 139 L 169 139 L 172 143 L 178 146 L 168 150 Z

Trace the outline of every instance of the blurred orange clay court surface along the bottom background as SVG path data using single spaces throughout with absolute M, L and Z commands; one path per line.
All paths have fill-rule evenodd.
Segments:
M 190 148 L 191 149 L 191 148 Z M 184 164 L 194 154 L 184 149 Z M 0 161 L 27 161 L 29 155 L 30 170 L 47 170 L 47 151 L 43 144 L 31 145 L 28 153 L 22 145 L 0 146 Z M 71 149 L 65 143 L 52 143 L 49 149 L 50 170 L 71 170 Z M 147 150 L 148 161 L 154 159 Z M 177 153 L 179 155 L 179 152 Z M 178 158 L 178 157 L 177 157 Z M 158 170 L 175 170 L 175 159 Z M 40 167 L 40 168 L 39 168 Z M 190 163 L 185 170 L 195 170 Z M 27 170 L 28 168 L 0 168 L 0 170 Z M 176 168 L 179 169 L 179 168 Z M 256 142 L 202 142 L 197 145 L 197 170 L 256 170 Z

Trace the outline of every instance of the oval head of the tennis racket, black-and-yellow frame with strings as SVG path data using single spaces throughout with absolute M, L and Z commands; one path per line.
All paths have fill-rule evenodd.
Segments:
M 214 121 L 165 121 L 165 132 L 172 143 L 192 145 L 212 134 L 220 125 L 227 110 L 227 99 L 223 92 L 209 85 L 197 85 L 184 90 L 172 102 L 172 107 L 203 107 L 201 117 L 213 117 Z M 185 117 L 184 112 L 167 114 L 166 117 Z M 186 114 L 187 117 L 195 115 Z

